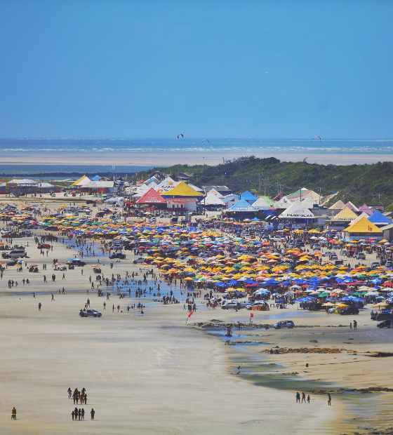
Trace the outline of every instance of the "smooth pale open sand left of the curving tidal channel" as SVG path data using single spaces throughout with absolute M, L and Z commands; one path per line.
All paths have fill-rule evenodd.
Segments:
M 60 262 L 76 254 L 62 243 L 53 246 L 50 255 Z M 27 251 L 40 270 L 43 262 L 49 263 L 31 240 Z M 125 270 L 139 271 L 139 265 L 126 261 L 111 272 Z M 109 274 L 108 263 L 102 271 Z M 88 272 L 82 276 L 80 268 L 67 271 L 64 281 L 58 272 L 55 283 L 43 283 L 42 273 L 5 272 L 0 316 L 2 434 L 249 434 L 262 428 L 269 434 L 336 433 L 339 407 L 327 408 L 317 398 L 310 413 L 295 406 L 291 393 L 254 387 L 232 375 L 227 347 L 186 326 L 181 304 L 149 303 L 144 315 L 138 310 L 128 314 L 126 304 L 135 298 L 112 295 L 103 311 L 104 298 L 95 291 L 86 293 Z M 30 279 L 29 286 L 22 285 L 22 277 Z M 8 289 L 8 279 L 18 281 L 18 288 Z M 65 295 L 58 294 L 62 287 Z M 79 317 L 88 297 L 91 307 L 103 312 L 101 319 Z M 112 312 L 112 303 L 121 304 L 123 312 Z M 216 313 L 201 309 L 193 320 L 212 316 Z M 87 390 L 84 422 L 72 421 L 69 387 Z M 13 406 L 18 410 L 16 422 L 10 420 Z M 88 415 L 91 408 L 94 422 Z M 277 426 L 282 413 L 286 419 Z

